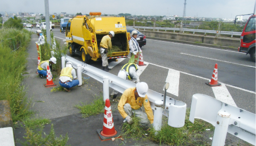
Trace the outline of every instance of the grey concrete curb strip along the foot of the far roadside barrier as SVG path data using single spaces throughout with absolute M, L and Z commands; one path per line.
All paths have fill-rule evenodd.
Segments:
M 206 44 L 206 43 L 195 43 L 195 42 L 189 42 L 189 41 L 180 41 L 180 40 L 173 40 L 173 39 L 168 39 L 168 38 L 157 38 L 157 37 L 147 37 L 147 38 L 152 39 L 152 40 L 185 43 L 185 44 L 195 45 L 195 46 L 204 46 L 204 47 L 221 48 L 221 49 L 225 49 L 225 50 L 238 51 L 238 48 L 232 48 L 232 47 L 227 47 L 227 46 L 218 46 L 218 45 L 210 45 L 210 44 Z

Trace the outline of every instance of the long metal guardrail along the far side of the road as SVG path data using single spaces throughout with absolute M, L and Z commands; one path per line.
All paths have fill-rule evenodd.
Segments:
M 127 26 L 127 27 L 132 27 L 132 26 Z M 153 30 L 153 27 L 142 27 L 142 26 L 135 26 L 135 28 L 142 29 L 142 30 Z M 193 32 L 193 34 L 195 34 L 195 32 L 201 32 L 201 33 L 213 33 L 213 34 L 220 34 L 220 35 L 231 35 L 231 37 L 233 36 L 241 36 L 241 32 L 231 32 L 231 31 L 213 31 L 213 30 L 195 30 L 195 29 L 189 29 L 189 28 L 183 28 L 182 30 L 180 28 L 170 28 L 170 27 L 155 27 L 154 30 L 163 30 L 163 31 L 183 31 L 183 32 Z

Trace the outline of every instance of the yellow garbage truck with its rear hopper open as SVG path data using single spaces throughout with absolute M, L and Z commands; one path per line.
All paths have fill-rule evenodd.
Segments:
M 108 59 L 125 58 L 129 54 L 129 33 L 126 31 L 124 17 L 101 16 L 101 12 L 90 12 L 90 16 L 76 16 L 67 23 L 66 44 L 71 56 L 79 55 L 83 62 L 101 58 L 100 41 L 114 31 L 112 46 L 118 52 L 108 54 Z

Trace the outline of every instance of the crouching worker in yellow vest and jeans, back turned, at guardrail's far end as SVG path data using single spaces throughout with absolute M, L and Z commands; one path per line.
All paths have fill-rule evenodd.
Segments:
M 60 86 L 64 87 L 64 90 L 70 92 L 70 88 L 79 85 L 79 80 L 76 80 L 76 72 L 73 69 L 72 62 L 67 62 L 66 67 L 61 70 Z

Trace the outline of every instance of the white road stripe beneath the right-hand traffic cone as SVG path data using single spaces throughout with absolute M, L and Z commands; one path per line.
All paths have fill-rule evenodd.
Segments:
M 232 96 L 230 95 L 228 89 L 226 89 L 225 85 L 211 87 L 212 91 L 214 92 L 215 98 L 222 101 L 223 103 L 233 105 L 235 107 L 235 101 L 233 100 Z

